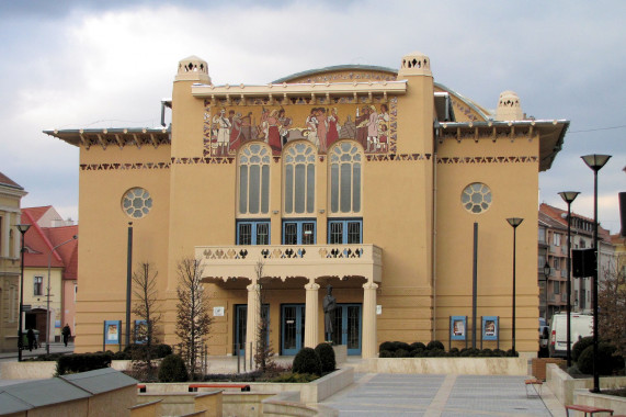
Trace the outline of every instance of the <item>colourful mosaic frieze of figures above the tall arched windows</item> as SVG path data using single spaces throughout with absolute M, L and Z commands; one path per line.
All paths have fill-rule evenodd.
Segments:
M 365 154 L 395 154 L 397 99 L 382 98 L 291 98 L 304 105 L 276 105 L 270 99 L 251 99 L 253 105 L 238 105 L 244 99 L 205 101 L 203 120 L 204 156 L 235 156 L 251 140 L 265 142 L 274 156 L 292 140 L 309 140 L 323 155 L 340 139 L 353 139 Z M 230 104 L 228 104 L 230 102 Z M 314 103 L 315 102 L 315 103 Z M 327 104 L 328 102 L 328 104 Z M 314 103 L 314 104 L 311 104 Z

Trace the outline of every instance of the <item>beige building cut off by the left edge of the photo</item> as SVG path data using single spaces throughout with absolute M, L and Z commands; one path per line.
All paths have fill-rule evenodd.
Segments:
M 0 172 L 0 352 L 18 350 L 20 203 L 27 193 Z

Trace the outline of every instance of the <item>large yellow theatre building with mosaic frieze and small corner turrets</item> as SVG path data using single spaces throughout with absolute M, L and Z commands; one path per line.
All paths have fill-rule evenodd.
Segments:
M 209 354 L 255 340 L 259 285 L 278 354 L 325 340 L 328 285 L 332 339 L 349 354 L 394 340 L 460 348 L 474 334 L 505 350 L 515 259 L 515 346 L 534 354 L 538 173 L 569 122 L 526 120 L 512 91 L 489 112 L 434 82 L 423 54 L 399 64 L 217 86 L 192 56 L 163 102 L 170 126 L 46 131 L 80 148 L 76 350 L 102 349 L 104 320 L 126 326 L 133 222 L 170 345 L 177 266 L 191 257 L 209 294 Z

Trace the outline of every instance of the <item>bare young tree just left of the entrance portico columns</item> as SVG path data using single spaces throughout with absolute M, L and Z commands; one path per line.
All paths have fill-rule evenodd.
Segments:
M 192 380 L 200 370 L 202 347 L 208 338 L 212 318 L 208 293 L 202 283 L 200 259 L 183 258 L 178 266 L 177 336 L 181 340 L 181 356 L 187 364 Z

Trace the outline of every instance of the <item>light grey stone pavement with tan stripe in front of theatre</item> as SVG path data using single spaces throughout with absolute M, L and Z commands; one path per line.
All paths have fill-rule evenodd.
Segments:
M 355 374 L 355 383 L 322 402 L 349 416 L 565 416 L 544 384 L 526 397 L 527 376 Z

